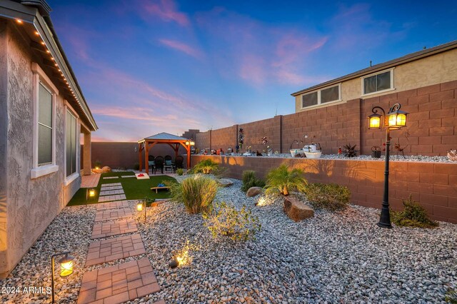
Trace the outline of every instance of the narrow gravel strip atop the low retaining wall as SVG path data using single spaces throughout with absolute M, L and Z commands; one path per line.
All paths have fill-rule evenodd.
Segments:
M 298 158 L 292 157 L 291 153 L 278 153 L 273 154 L 272 156 L 243 156 L 242 154 L 237 154 L 236 156 L 241 157 L 273 157 L 273 158 Z M 305 158 L 306 159 L 306 158 Z M 356 157 L 348 158 L 346 156 L 338 154 L 322 154 L 320 158 L 316 159 L 345 159 L 355 160 L 355 161 L 385 161 L 386 156 L 382 155 L 381 158 L 372 158 L 369 155 L 359 155 Z M 392 155 L 389 158 L 390 161 L 419 161 L 419 162 L 428 162 L 428 163 L 457 163 L 457 161 L 451 161 L 447 156 L 402 156 L 402 155 Z

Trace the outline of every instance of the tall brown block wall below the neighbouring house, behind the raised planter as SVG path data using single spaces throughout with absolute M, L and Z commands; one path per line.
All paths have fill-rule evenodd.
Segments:
M 406 128 L 391 132 L 392 143 L 400 143 L 405 155 L 446 156 L 457 148 L 457 81 L 197 133 L 196 148 L 234 149 L 238 129 L 243 128 L 243 150 L 248 146 L 253 151 L 265 150 L 261 138 L 266 136 L 273 151 L 288 153 L 293 140 L 304 140 L 307 134 L 306 142 L 320 143 L 324 154 L 337 153 L 346 143 L 369 154 L 372 146 L 383 146 L 386 136 L 384 131 L 368 129 L 371 108 L 381 106 L 388 111 L 395 103 L 409 113 Z M 303 143 L 293 144 L 293 148 L 298 146 Z

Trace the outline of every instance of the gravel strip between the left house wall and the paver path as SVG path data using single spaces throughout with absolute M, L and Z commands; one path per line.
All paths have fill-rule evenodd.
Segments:
M 56 258 L 54 287 L 56 303 L 76 303 L 85 272 L 87 250 L 89 248 L 96 208 L 94 206 L 67 207 L 39 237 L 16 268 L 4 280 L 0 288 L 14 287 L 19 293 L 1 293 L 0 303 L 51 303 L 51 255 L 71 251 L 74 255 L 74 273 L 66 278 L 59 275 Z M 40 288 L 43 292 L 24 292 L 24 288 Z M 49 288 L 49 293 L 46 293 Z

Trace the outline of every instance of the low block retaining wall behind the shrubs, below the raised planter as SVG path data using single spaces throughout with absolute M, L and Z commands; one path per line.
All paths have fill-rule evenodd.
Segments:
M 241 179 L 245 170 L 256 171 L 264 178 L 270 168 L 285 163 L 305 171 L 308 182 L 337 183 L 351 189 L 351 203 L 381 208 L 383 200 L 384 162 L 306 158 L 268 158 L 243 156 L 191 156 L 194 165 L 211 158 L 228 168 L 226 174 Z M 412 195 L 438 221 L 457 223 L 457 163 L 417 163 L 391 161 L 389 203 L 401 210 L 402 199 Z

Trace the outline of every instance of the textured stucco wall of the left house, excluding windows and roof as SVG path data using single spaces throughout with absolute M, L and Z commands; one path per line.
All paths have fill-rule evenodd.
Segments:
M 54 124 L 59 170 L 31 178 L 34 151 L 31 66 L 41 61 L 31 52 L 29 44 L 11 22 L 0 21 L 0 277 L 14 268 L 81 185 L 81 176 L 65 185 L 66 107 L 61 95 L 55 100 Z M 78 122 L 77 170 L 80 128 Z

